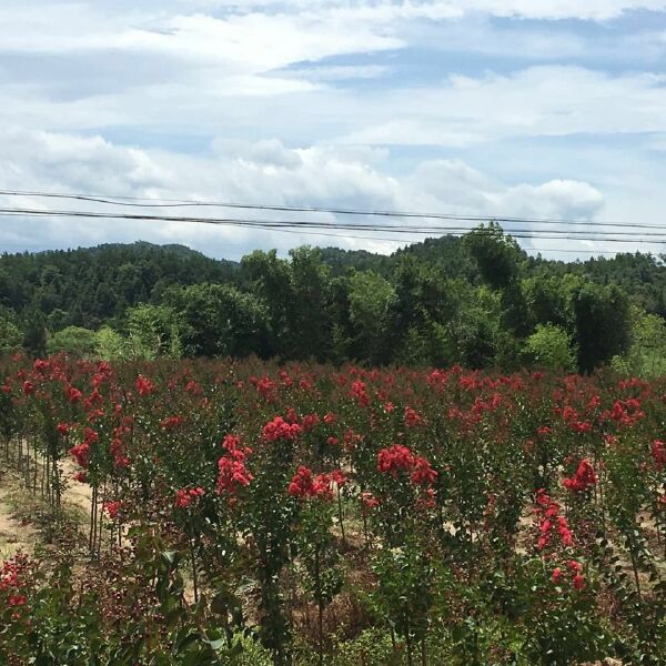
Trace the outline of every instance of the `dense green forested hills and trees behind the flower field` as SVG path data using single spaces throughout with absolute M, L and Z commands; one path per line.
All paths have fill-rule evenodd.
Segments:
M 531 258 L 496 225 L 389 256 L 231 262 L 144 242 L 0 256 L 0 352 L 656 367 L 665 315 L 660 259 Z

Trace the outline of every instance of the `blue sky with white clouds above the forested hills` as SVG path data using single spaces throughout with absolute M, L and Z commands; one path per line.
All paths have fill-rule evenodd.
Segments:
M 0 190 L 663 223 L 666 0 L 2 0 L 0 26 Z M 0 216 L 10 252 L 404 244 L 361 235 Z

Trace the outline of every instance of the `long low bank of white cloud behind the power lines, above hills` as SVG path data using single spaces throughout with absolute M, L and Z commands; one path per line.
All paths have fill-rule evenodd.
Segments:
M 498 182 L 460 160 L 422 162 L 396 178 L 386 172 L 391 155 L 367 148 L 316 147 L 290 150 L 279 141 L 244 143 L 219 140 L 203 155 L 118 147 L 99 137 L 82 139 L 47 132 L 0 133 L 6 155 L 0 181 L 22 191 L 94 192 L 114 195 L 203 201 L 268 202 L 285 205 L 350 206 L 354 209 L 428 210 L 456 213 L 529 214 L 594 218 L 604 198 L 588 183 L 552 181 L 537 185 Z M 23 208 L 90 210 L 94 204 L 3 198 Z M 97 210 L 101 210 L 97 206 Z M 117 212 L 117 209 L 112 209 Z M 134 212 L 134 211 L 132 211 Z M 151 212 L 151 211 L 149 211 Z M 201 215 L 201 209 L 152 211 Z M 239 213 L 205 210 L 208 215 L 245 219 L 312 220 L 313 213 Z M 333 221 L 326 214 L 316 216 Z M 451 223 L 456 225 L 456 223 Z M 460 224 L 457 224 L 460 226 Z M 332 233 L 340 233 L 334 232 Z M 81 220 L 4 219 L 3 248 L 90 245 L 137 239 L 181 242 L 208 254 L 238 259 L 256 246 L 285 250 L 303 243 L 337 244 L 390 252 L 396 243 L 381 240 L 281 234 L 203 224 Z M 380 234 L 382 238 L 390 235 Z M 411 238 L 417 238 L 416 235 Z M 38 239 L 38 240 L 36 240 Z

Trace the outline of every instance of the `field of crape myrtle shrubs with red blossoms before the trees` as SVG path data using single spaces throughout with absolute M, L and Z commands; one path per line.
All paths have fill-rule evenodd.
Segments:
M 1 565 L 2 664 L 666 659 L 665 382 L 1 370 L 6 464 L 51 525 L 91 495 L 84 543 Z

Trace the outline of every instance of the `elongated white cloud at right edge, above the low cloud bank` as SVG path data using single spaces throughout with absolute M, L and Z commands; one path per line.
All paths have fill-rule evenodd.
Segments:
M 366 110 L 351 143 L 464 147 L 508 137 L 666 130 L 666 75 L 577 67 L 452 77 L 440 89 L 392 90 Z

